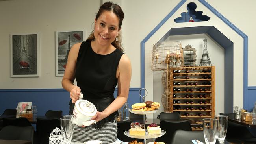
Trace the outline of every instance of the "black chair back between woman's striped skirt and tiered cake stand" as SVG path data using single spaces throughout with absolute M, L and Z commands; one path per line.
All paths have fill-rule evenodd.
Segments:
M 128 131 L 131 128 L 132 121 L 117 122 L 117 138 L 123 142 L 131 142 L 134 138 L 130 138 L 124 135 L 124 131 Z

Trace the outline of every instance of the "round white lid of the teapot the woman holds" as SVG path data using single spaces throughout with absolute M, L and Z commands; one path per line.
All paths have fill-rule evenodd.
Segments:
M 77 100 L 75 103 L 76 110 L 86 116 L 95 116 L 97 113 L 96 107 L 93 103 L 87 100 Z

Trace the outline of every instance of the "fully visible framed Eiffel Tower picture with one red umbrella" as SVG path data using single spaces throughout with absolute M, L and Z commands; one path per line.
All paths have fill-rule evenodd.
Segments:
M 10 35 L 11 77 L 39 77 L 39 33 Z

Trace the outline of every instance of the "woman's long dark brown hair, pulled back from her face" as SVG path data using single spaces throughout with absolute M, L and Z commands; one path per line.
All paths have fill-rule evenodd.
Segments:
M 124 19 L 124 12 L 122 11 L 122 8 L 118 4 L 114 4 L 113 2 L 105 2 L 104 4 L 102 4 L 102 6 L 100 6 L 100 9 L 96 14 L 96 20 L 98 20 L 98 18 L 104 11 L 112 11 L 113 13 L 115 13 L 115 15 L 119 19 L 119 30 L 120 30 L 122 26 L 122 20 Z M 117 35 L 117 39 L 118 41 L 113 41 L 111 44 L 115 46 L 115 48 L 124 52 L 124 49 L 122 47 L 121 31 L 119 31 L 119 34 Z M 94 37 L 94 30 L 93 30 L 86 41 L 94 41 L 94 40 L 95 40 L 95 37 Z

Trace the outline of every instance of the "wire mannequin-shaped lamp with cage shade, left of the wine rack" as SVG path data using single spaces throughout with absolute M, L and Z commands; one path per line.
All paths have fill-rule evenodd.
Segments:
M 164 112 L 173 112 L 173 72 L 170 68 L 183 67 L 183 53 L 181 42 L 166 41 L 157 42 L 153 45 L 152 70 L 164 70 L 162 83 L 165 88 L 162 95 Z

